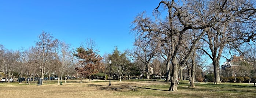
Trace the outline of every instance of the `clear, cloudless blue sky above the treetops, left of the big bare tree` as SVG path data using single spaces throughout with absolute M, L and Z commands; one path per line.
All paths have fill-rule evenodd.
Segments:
M 131 22 L 151 14 L 160 0 L 1 0 L 0 44 L 6 49 L 35 46 L 41 31 L 79 47 L 95 40 L 100 54 L 131 49 Z

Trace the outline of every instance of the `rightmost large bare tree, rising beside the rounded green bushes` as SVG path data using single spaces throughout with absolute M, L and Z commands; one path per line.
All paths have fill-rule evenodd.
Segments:
M 211 16 L 209 18 L 214 23 L 214 26 L 205 29 L 206 35 L 202 38 L 209 50 L 199 49 L 203 50 L 212 60 L 214 83 L 221 83 L 219 60 L 225 46 L 237 48 L 255 39 L 256 34 L 253 29 L 246 29 L 255 24 L 255 1 L 213 0 L 207 3 L 198 2 L 198 4 L 205 4 L 209 7 L 207 15 Z M 202 7 L 206 7 L 205 5 Z

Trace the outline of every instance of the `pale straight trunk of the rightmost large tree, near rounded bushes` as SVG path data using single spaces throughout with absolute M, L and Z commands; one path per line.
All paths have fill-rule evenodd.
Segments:
M 219 61 L 213 61 L 213 65 L 214 65 L 214 84 L 218 84 L 218 83 L 221 83 L 220 81 L 220 76 L 219 76 L 219 73 L 220 73 L 220 68 L 219 68 Z

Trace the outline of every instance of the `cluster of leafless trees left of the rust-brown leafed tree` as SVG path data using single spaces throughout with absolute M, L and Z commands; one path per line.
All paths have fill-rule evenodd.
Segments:
M 28 77 L 31 81 L 36 77 L 49 79 L 53 75 L 58 77 L 59 84 L 63 77 L 75 73 L 73 60 L 71 45 L 44 31 L 38 35 L 36 45 L 29 49 L 13 51 L 0 45 L 0 72 L 5 78 Z

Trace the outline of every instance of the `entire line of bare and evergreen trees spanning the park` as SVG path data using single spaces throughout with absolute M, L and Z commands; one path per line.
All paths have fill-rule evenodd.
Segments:
M 221 57 L 229 59 L 233 53 L 243 54 L 256 71 L 255 55 L 250 55 L 255 48 L 255 6 L 253 0 L 160 1 L 153 15 L 142 12 L 134 19 L 134 48 L 122 53 L 116 46 L 105 59 L 94 49 L 93 41 L 72 51 L 70 45 L 42 31 L 36 46 L 27 50 L 7 51 L 1 45 L 0 71 L 10 77 L 22 69 L 19 72 L 30 78 L 44 78 L 53 72 L 62 77 L 70 73 L 69 69 L 75 69 L 82 77 L 89 76 L 90 81 L 91 75 L 99 72 L 106 77 L 105 69 L 109 69 L 111 60 L 112 73 L 108 78 L 116 75 L 121 82 L 122 76 L 142 75 L 143 79 L 145 75 L 152 79 L 152 74 L 165 75 L 166 81 L 171 82 L 169 91 L 177 91 L 183 69 L 186 68 L 190 86 L 194 87 L 194 80 L 201 78 L 197 69 L 209 58 L 214 83 L 221 83 Z

